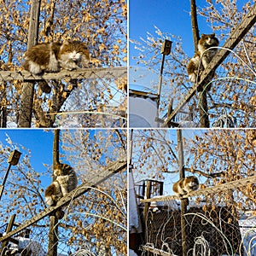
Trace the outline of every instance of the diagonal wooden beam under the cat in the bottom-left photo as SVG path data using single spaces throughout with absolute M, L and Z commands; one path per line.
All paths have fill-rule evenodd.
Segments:
M 80 195 L 84 195 L 84 193 L 90 191 L 91 187 L 96 187 L 100 183 L 106 181 L 109 177 L 112 177 L 115 173 L 121 172 L 122 170 L 127 168 L 127 159 L 126 155 L 123 155 L 119 158 L 119 160 L 113 162 L 109 166 L 102 168 L 102 171 L 99 174 L 95 175 L 89 182 L 81 184 L 77 189 L 74 189 L 72 192 L 67 194 L 65 197 L 61 198 L 58 201 L 57 206 L 48 207 L 44 209 L 43 212 L 39 212 L 38 215 L 32 217 L 27 220 L 24 224 L 20 224 L 18 228 L 13 231 L 10 231 L 6 236 L 0 237 L 0 242 L 7 240 L 9 237 L 14 236 L 19 233 L 21 230 L 24 230 L 26 227 L 37 223 L 40 219 L 45 218 L 52 212 L 55 212 L 57 209 L 66 206 L 70 201 L 78 198 Z

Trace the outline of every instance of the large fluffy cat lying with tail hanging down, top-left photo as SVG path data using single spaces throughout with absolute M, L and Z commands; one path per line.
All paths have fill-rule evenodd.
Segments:
M 59 72 L 87 67 L 90 63 L 90 53 L 85 43 L 65 41 L 60 43 L 37 44 L 28 49 L 23 67 L 37 75 L 44 72 Z M 50 92 L 49 85 L 44 81 L 39 84 L 41 90 Z

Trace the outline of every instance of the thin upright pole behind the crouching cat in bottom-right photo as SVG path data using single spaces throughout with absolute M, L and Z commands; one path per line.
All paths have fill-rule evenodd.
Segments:
M 182 179 L 185 177 L 184 170 L 184 155 L 183 155 L 183 136 L 182 130 L 177 129 L 177 151 L 178 151 L 178 169 L 179 169 L 179 178 Z M 183 256 L 187 256 L 187 233 L 186 233 L 186 220 L 184 214 L 187 212 L 188 199 L 181 199 L 181 212 L 180 212 L 180 223 L 181 223 L 181 233 L 182 233 L 182 248 Z

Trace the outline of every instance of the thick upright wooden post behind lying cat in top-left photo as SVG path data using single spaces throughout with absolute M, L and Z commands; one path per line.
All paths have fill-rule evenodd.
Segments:
M 38 26 L 41 0 L 33 0 L 30 10 L 27 49 L 38 44 Z M 31 127 L 34 84 L 25 82 L 22 86 L 20 99 L 20 115 L 18 126 Z

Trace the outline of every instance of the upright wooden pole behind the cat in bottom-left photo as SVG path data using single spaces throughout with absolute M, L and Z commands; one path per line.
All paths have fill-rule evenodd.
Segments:
M 55 137 L 53 143 L 53 169 L 55 169 L 56 164 L 60 162 L 60 130 L 55 130 Z M 55 177 L 53 177 L 53 181 Z M 59 210 L 58 210 L 59 211 Z M 60 210 L 61 211 L 61 210 Z M 56 212 L 49 215 L 49 234 L 48 234 L 48 256 L 57 256 L 58 251 L 58 218 Z

